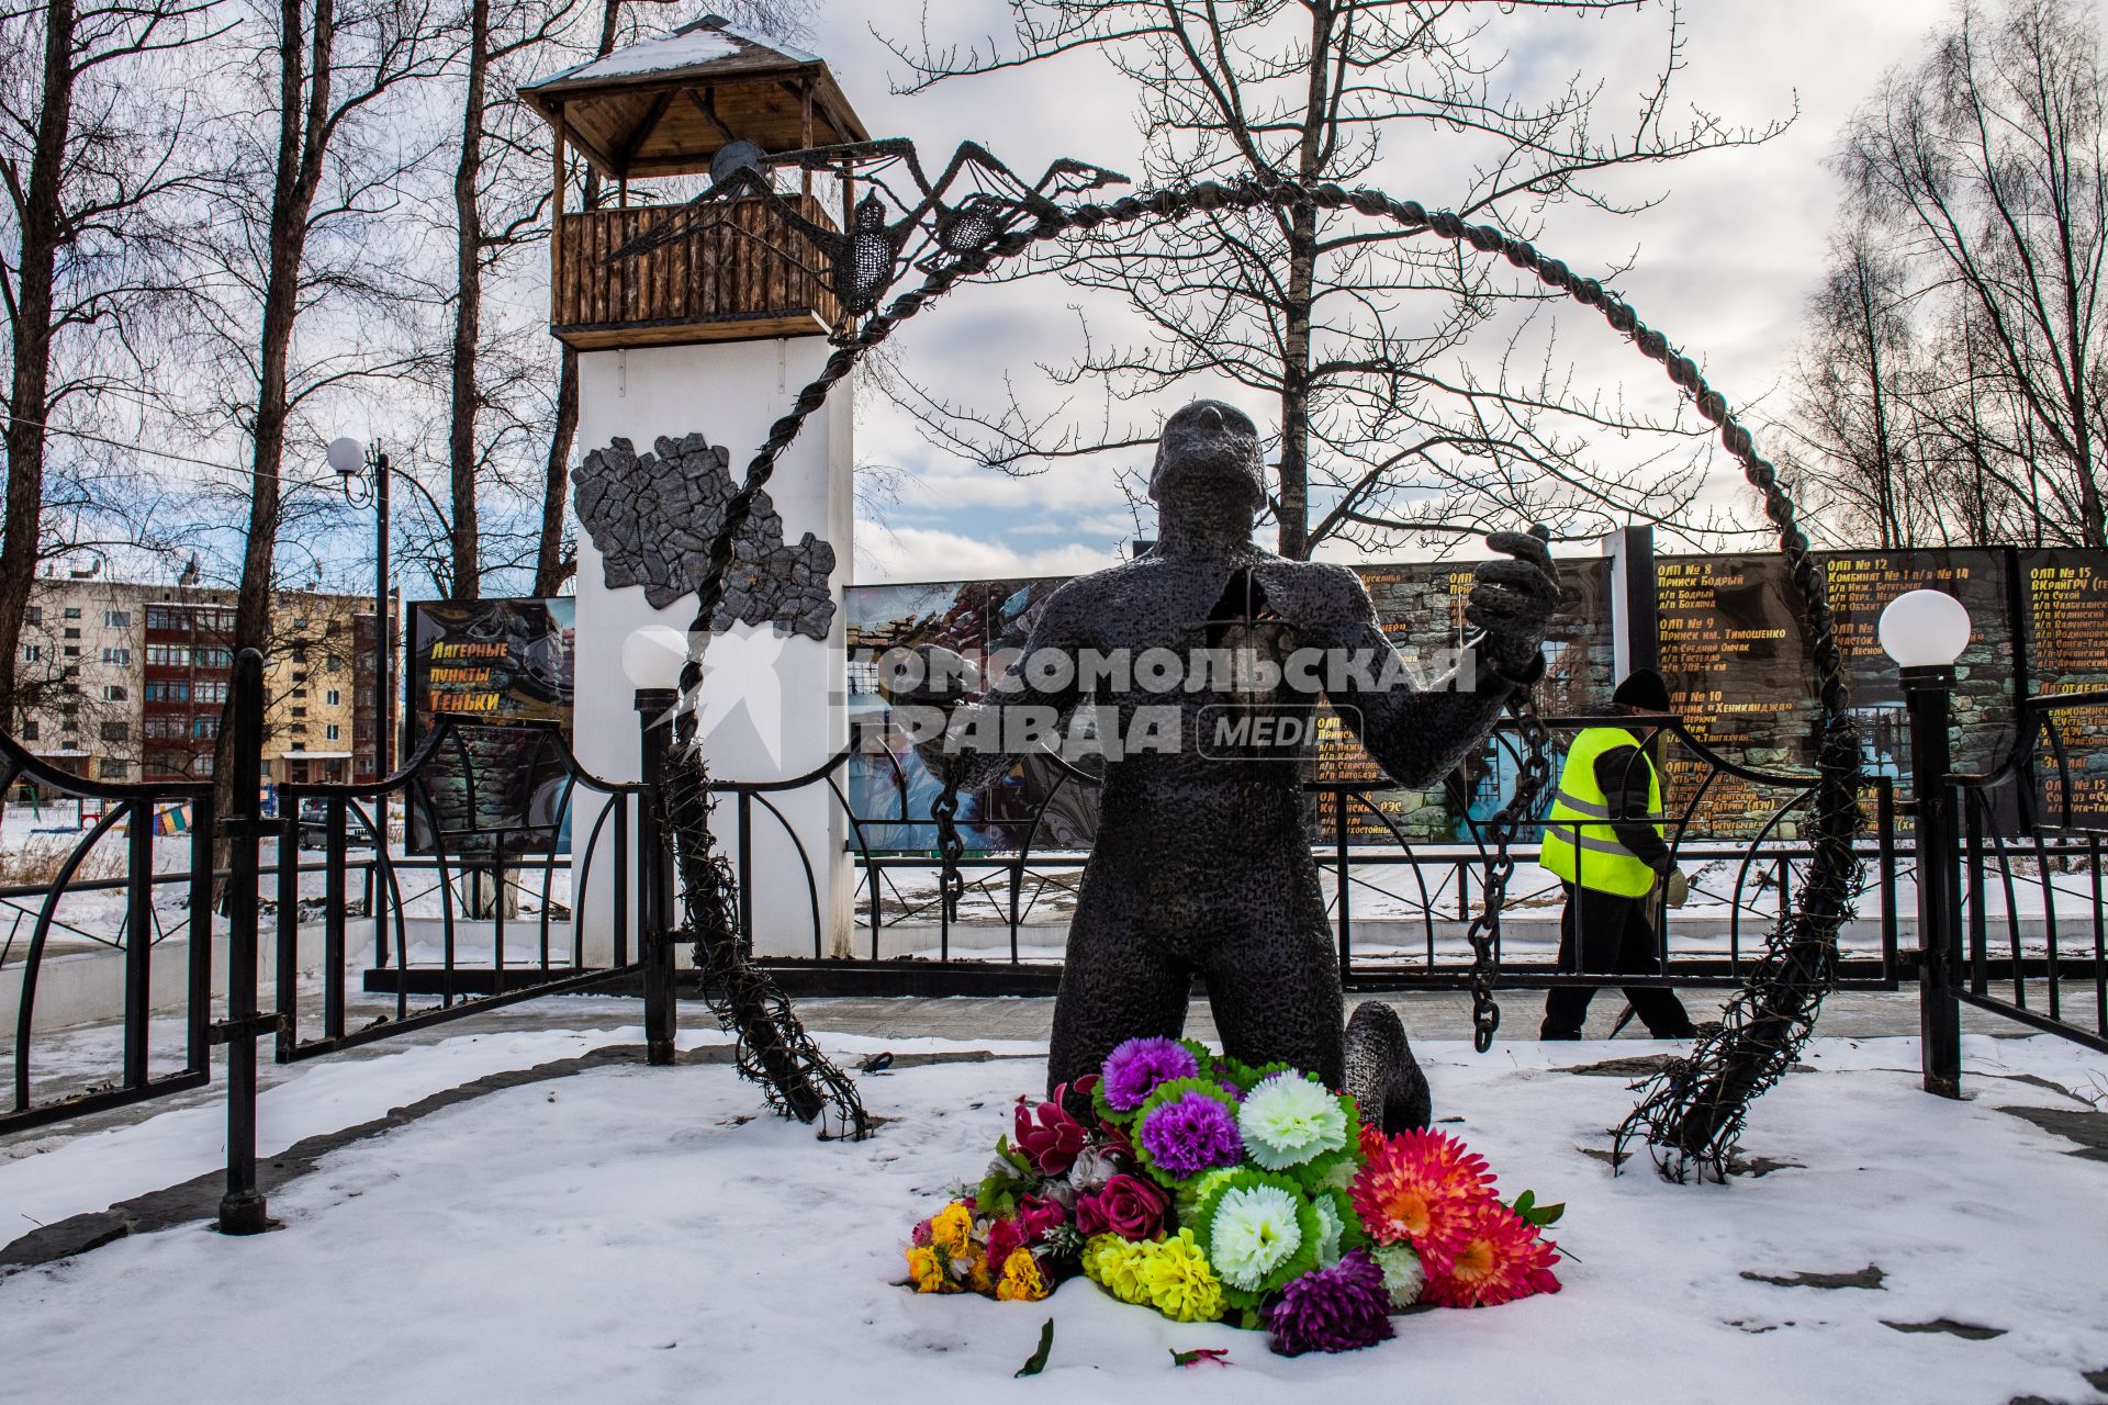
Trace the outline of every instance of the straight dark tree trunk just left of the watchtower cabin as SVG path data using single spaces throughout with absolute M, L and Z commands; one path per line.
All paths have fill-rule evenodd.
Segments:
M 483 88 L 491 65 L 491 2 L 468 6 L 468 82 L 462 99 L 462 160 L 453 169 L 453 398 L 447 428 L 449 482 L 453 487 L 453 592 L 455 600 L 483 594 L 481 533 L 476 529 L 476 341 L 483 335 L 483 204 L 476 169 L 483 164 Z

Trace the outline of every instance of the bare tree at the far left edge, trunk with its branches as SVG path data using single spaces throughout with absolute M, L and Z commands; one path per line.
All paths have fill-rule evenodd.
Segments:
M 209 38 L 207 8 L 207 0 L 44 0 L 0 11 L 0 185 L 11 225 L 0 246 L 6 706 L 19 701 L 38 562 L 93 546 L 114 506 L 101 468 L 61 466 L 61 482 L 48 478 L 51 436 L 103 392 L 137 385 L 137 318 L 173 280 L 160 206 L 194 181 L 175 158 L 188 114 L 152 91 L 152 63 Z

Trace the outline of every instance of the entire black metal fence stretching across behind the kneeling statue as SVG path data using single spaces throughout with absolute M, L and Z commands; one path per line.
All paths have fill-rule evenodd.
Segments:
M 662 714 L 664 701 L 639 695 L 641 720 Z M 2074 824 L 2074 813 L 2089 807 L 2074 805 L 2078 781 L 2066 765 L 2066 733 L 2093 714 L 2108 718 L 2108 691 L 2032 699 L 2011 756 L 1994 771 L 1952 777 L 1941 792 L 1956 824 L 1948 826 L 1952 838 L 1935 834 L 1935 872 L 1956 874 L 1958 895 L 1956 921 L 1946 927 L 1954 933 L 1944 963 L 1952 979 L 1927 984 L 1927 1009 L 1939 1001 L 1973 1005 L 2108 1049 L 2108 830 Z M 245 1232 L 266 1224 L 255 1184 L 257 1038 L 272 1036 L 274 1057 L 291 1064 L 542 994 L 635 979 L 645 994 L 649 1057 L 670 1062 L 672 887 L 651 805 L 658 750 L 649 739 L 641 746 L 645 779 L 618 784 L 590 775 L 554 729 L 544 731 L 542 769 L 561 773 L 563 786 L 552 811 L 533 822 L 485 824 L 474 803 L 441 803 L 436 786 L 472 775 L 460 723 L 436 727 L 396 775 L 285 786 L 280 809 L 264 817 L 261 716 L 261 659 L 251 651 L 236 664 L 228 714 L 236 758 L 230 815 L 215 815 L 209 784 L 89 781 L 0 735 L 0 788 L 25 779 L 99 809 L 93 824 L 48 847 L 40 859 L 48 872 L 13 874 L 0 885 L 0 1001 L 15 1007 L 0 1135 L 207 1087 L 211 1047 L 228 1045 L 221 1228 Z M 1556 718 L 1551 729 L 1573 735 L 1604 723 L 1634 729 L 1657 756 L 1680 760 L 1665 840 L 1695 874 L 1699 902 L 1657 912 L 1655 971 L 1602 973 L 1575 969 L 1558 954 L 1556 878 L 1518 883 L 1497 935 L 1495 986 L 1739 984 L 1809 862 L 1796 826 L 1813 777 L 1726 758 L 1676 718 Z M 1497 744 L 1509 756 L 1518 746 L 1511 733 Z M 866 843 L 871 826 L 928 826 L 928 815 L 909 813 L 904 786 L 890 813 L 854 813 L 841 786 L 845 760 L 841 752 L 782 781 L 713 784 L 725 800 L 719 824 L 740 876 L 738 918 L 748 950 L 763 948 L 778 979 L 803 992 L 1050 992 L 1060 971 L 1058 942 L 1035 948 L 1031 937 L 1065 927 L 1058 906 L 1086 857 L 1039 847 L 1043 809 L 1020 824 L 1012 853 L 965 859 L 965 895 L 955 910 L 942 899 L 944 885 L 930 883 L 938 868 L 932 853 L 885 853 Z M 1086 771 L 1065 769 L 1062 786 L 1096 784 Z M 1745 838 L 1701 838 L 1695 828 L 1705 796 L 1726 781 L 1767 796 L 1767 815 Z M 803 790 L 824 790 L 845 815 L 862 954 L 826 950 L 828 904 L 816 855 L 782 805 Z M 1499 855 L 1478 830 L 1459 845 L 1412 843 L 1383 813 L 1374 790 L 1309 786 L 1313 815 L 1330 826 L 1318 864 L 1330 887 L 1341 977 L 1355 990 L 1465 988 L 1471 956 L 1463 929 Z M 1874 777 L 1866 800 L 1863 883 L 1836 977 L 1849 988 L 1893 990 L 1941 965 L 1920 950 L 1925 897 L 1916 891 L 1918 840 L 1908 817 L 1922 813 L 1922 796 L 1904 807 L 1895 784 Z M 559 836 L 571 830 L 573 811 L 582 824 L 565 845 Z M 188 813 L 188 836 L 169 834 L 171 813 Z M 2009 836 L 2005 817 L 2013 813 L 2024 817 L 2026 838 Z M 403 834 L 415 830 L 430 851 L 407 853 L 396 817 Z M 1349 843 L 1358 817 L 1383 843 Z M 757 891 L 755 845 L 772 826 L 797 847 L 805 880 Z M 173 840 L 162 845 L 162 859 L 179 855 L 181 866 L 156 868 L 156 830 Z M 304 843 L 318 847 L 316 859 L 301 859 Z M 1524 862 L 1537 853 L 1535 843 L 1516 849 Z M 1039 923 L 1048 908 L 1052 921 Z M 607 914 L 605 942 L 588 935 L 588 912 Z M 805 935 L 795 935 L 807 931 L 809 956 L 790 956 L 807 950 Z M 320 944 L 318 958 L 304 952 L 304 942 Z M 63 975 L 61 965 L 80 952 L 101 952 L 105 971 L 110 952 L 120 954 L 122 1028 L 108 1068 L 84 1072 L 74 1057 L 46 1070 L 38 1051 L 53 1022 L 40 1022 L 40 992 L 48 998 L 53 973 Z M 367 1005 L 365 1024 L 354 1028 L 352 971 L 360 952 L 371 952 L 365 994 L 379 992 L 388 1003 L 379 1011 Z M 259 984 L 266 954 L 274 963 L 268 992 Z M 179 979 L 171 979 L 171 963 Z M 304 982 L 304 969 L 318 971 L 318 979 Z M 173 1032 L 162 1017 L 158 1045 L 154 1011 L 175 1011 Z

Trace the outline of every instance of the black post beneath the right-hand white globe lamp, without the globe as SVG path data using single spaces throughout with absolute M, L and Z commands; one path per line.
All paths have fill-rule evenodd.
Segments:
M 1948 697 L 1954 668 L 1904 668 L 1910 706 L 1912 817 L 1918 849 L 1918 1064 L 1925 1091 L 1963 1095 L 1963 1009 L 1954 998 L 1960 965 L 1960 849 L 1948 779 Z

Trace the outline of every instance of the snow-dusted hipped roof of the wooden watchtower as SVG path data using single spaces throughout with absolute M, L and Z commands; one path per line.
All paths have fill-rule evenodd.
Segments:
M 521 99 L 616 179 L 708 171 L 740 139 L 772 154 L 871 139 L 824 59 L 721 15 L 531 82 Z

